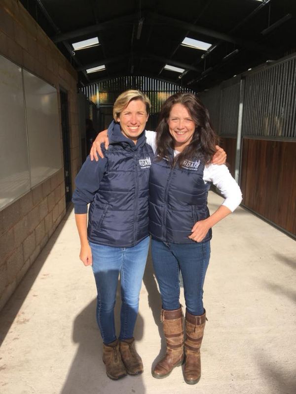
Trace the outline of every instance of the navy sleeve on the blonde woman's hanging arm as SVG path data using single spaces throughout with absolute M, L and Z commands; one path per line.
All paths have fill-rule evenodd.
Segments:
M 75 190 L 72 197 L 76 214 L 87 213 L 87 204 L 93 201 L 95 193 L 99 189 L 106 165 L 106 158 L 96 162 L 91 161 L 89 156 L 83 163 L 75 178 Z

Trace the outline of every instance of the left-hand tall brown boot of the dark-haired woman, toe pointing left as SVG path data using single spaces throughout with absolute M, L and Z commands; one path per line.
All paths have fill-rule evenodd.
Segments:
M 167 377 L 175 366 L 182 365 L 184 360 L 184 327 L 181 307 L 174 311 L 161 310 L 161 321 L 166 340 L 166 354 L 152 370 L 157 379 Z

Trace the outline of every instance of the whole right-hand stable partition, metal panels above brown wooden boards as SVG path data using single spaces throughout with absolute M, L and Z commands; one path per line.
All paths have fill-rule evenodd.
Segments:
M 248 70 L 200 96 L 210 103 L 210 112 L 214 102 L 220 108 L 216 130 L 229 156 L 235 156 L 233 172 L 243 205 L 295 238 L 296 54 Z

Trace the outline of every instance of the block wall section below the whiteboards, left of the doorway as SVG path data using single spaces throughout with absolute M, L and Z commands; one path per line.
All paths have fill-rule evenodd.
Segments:
M 66 214 L 63 174 L 0 211 L 0 309 Z

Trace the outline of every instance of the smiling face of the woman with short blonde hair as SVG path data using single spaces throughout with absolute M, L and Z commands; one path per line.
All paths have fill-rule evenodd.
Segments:
M 117 122 L 120 123 L 121 132 L 137 143 L 138 136 L 145 129 L 148 120 L 146 105 L 142 100 L 132 100 L 120 112 Z

